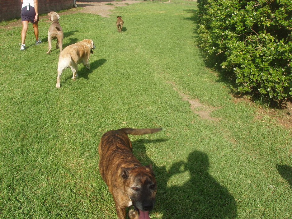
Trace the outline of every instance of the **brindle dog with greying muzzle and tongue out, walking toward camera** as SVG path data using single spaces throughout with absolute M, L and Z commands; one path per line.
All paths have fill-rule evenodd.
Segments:
M 161 128 L 121 128 L 103 134 L 98 145 L 99 172 L 106 182 L 114 201 L 119 219 L 126 218 L 126 207 L 131 219 L 150 219 L 156 194 L 156 179 L 152 165 L 142 166 L 132 153 L 130 135 L 159 132 Z

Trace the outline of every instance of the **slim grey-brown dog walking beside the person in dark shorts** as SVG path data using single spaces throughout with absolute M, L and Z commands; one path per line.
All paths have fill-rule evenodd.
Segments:
M 52 21 L 51 25 L 49 26 L 48 31 L 48 43 L 49 43 L 49 54 L 52 50 L 52 39 L 57 38 L 56 49 L 60 48 L 60 53 L 62 52 L 63 47 L 63 30 L 59 24 L 60 16 L 56 12 L 49 12 L 48 13 L 49 20 Z

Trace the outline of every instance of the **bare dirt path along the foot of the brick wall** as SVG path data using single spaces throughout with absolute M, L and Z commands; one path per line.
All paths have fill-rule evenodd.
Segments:
M 76 5 L 78 8 L 71 8 L 66 12 L 60 12 L 59 15 L 64 14 L 74 14 L 77 12 L 83 13 L 92 13 L 98 14 L 102 17 L 109 17 L 111 14 L 110 10 L 114 9 L 115 7 L 127 6 L 129 4 L 137 3 L 137 2 L 144 2 L 144 1 L 136 1 L 136 0 L 121 0 L 119 2 L 112 1 L 112 0 L 92 0 L 88 1 L 76 1 Z M 113 4 L 113 5 L 106 5 L 106 4 Z M 40 19 L 48 18 L 45 16 L 40 16 Z M 2 29 L 11 29 L 14 26 L 20 26 L 21 20 L 13 21 L 6 26 L 0 26 Z

